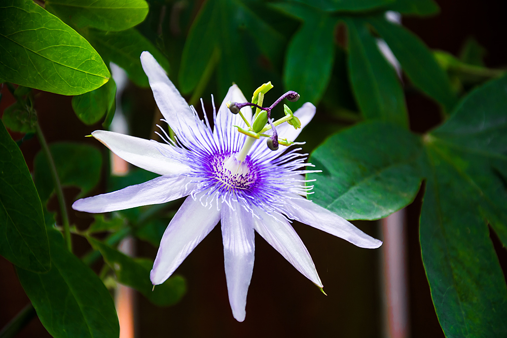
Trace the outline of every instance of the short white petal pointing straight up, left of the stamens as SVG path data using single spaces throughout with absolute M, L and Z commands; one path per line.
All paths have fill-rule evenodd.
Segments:
M 225 144 L 232 146 L 233 144 L 242 145 L 242 141 L 245 136 L 237 131 L 233 126 L 246 128 L 246 124 L 239 114 L 232 114 L 227 107 L 228 101 L 236 103 L 248 102 L 237 85 L 232 85 L 227 92 L 222 104 L 219 107 L 219 111 L 216 114 L 216 125 L 213 130 L 215 137 L 219 137 Z M 241 113 L 245 119 L 250 122 L 252 119 L 252 109 L 250 106 L 241 108 Z M 216 139 L 219 141 L 219 139 Z

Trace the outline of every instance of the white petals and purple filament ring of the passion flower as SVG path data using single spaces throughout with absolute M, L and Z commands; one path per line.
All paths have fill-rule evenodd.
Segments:
M 307 154 L 299 154 L 299 148 L 284 152 L 286 146 L 272 151 L 264 138 L 238 132 L 238 127 L 249 128 L 246 122 L 252 120 L 252 109 L 241 104 L 247 101 L 236 85 L 229 89 L 218 111 L 213 105 L 211 129 L 206 114 L 201 121 L 150 53 L 141 54 L 141 63 L 164 121 L 176 134 L 176 143 L 164 133 L 166 143 L 102 130 L 92 135 L 127 162 L 161 176 L 113 193 L 78 200 L 73 208 L 109 212 L 187 196 L 162 237 L 150 274 L 154 285 L 169 278 L 219 221 L 229 302 L 238 321 L 245 319 L 246 294 L 253 270 L 254 230 L 320 288 L 322 283 L 315 265 L 291 220 L 359 247 L 377 248 L 382 244 L 306 198 L 311 186 L 306 186 L 304 175 L 312 172 L 306 170 L 311 167 L 305 163 Z M 241 114 L 232 114 L 227 102 L 242 106 Z M 305 103 L 294 117 L 299 118 L 303 128 L 314 114 L 315 106 Z M 283 123 L 275 132 L 269 129 L 273 122 L 268 123 L 264 135 L 277 133 L 288 143 L 301 131 Z

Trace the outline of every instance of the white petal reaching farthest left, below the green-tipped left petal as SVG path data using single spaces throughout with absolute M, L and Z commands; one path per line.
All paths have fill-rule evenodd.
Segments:
M 142 205 L 160 204 L 187 196 L 185 185 L 191 181 L 186 176 L 160 176 L 148 182 L 130 185 L 113 193 L 97 195 L 77 200 L 74 210 L 86 212 L 109 212 L 129 209 Z

